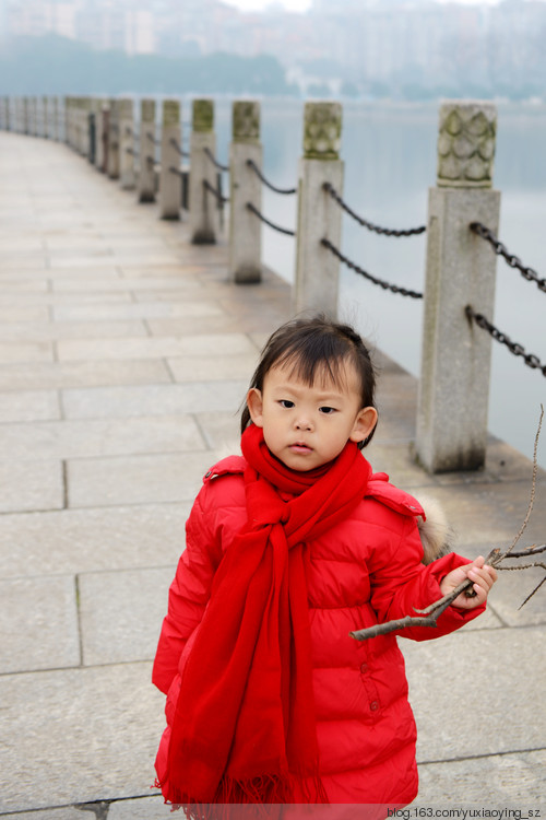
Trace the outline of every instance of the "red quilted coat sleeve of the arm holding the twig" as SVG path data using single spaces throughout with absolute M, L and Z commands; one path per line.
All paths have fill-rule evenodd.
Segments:
M 405 517 L 402 532 L 399 529 L 397 537 L 390 534 L 387 548 L 377 550 L 370 566 L 371 606 L 380 623 L 415 616 L 416 609 L 424 609 L 441 598 L 441 579 L 458 566 L 470 563 L 453 552 L 426 566 L 422 560 L 423 546 L 417 525 L 415 519 Z M 463 626 L 484 610 L 485 605 L 472 610 L 448 607 L 436 628 L 412 626 L 397 634 L 414 641 L 440 637 Z

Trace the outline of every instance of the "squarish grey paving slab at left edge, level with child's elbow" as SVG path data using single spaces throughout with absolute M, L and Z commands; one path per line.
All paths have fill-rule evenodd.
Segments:
M 79 666 L 73 576 L 0 581 L 0 675 Z

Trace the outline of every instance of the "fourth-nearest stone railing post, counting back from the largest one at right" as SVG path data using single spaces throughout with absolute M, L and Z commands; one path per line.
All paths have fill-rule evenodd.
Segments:
M 205 150 L 216 154 L 214 103 L 194 99 L 190 139 L 190 234 L 195 245 L 212 245 L 219 230 L 218 203 L 205 183 L 216 188 L 216 168 Z

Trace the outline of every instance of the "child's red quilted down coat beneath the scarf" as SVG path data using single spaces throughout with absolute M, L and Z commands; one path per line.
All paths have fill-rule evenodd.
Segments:
M 226 547 L 246 522 L 245 460 L 232 456 L 204 478 L 187 523 L 187 546 L 169 590 L 153 668 L 167 694 L 156 759 L 166 766 L 180 675 Z M 416 517 L 419 503 L 377 473 L 342 524 L 306 544 L 313 689 L 321 777 L 331 804 L 401 806 L 417 794 L 416 727 L 404 659 L 394 633 L 358 642 L 351 630 L 414 614 L 441 597 L 439 581 L 468 563 L 450 553 L 428 566 Z M 416 641 L 444 635 L 483 611 L 450 607 L 438 628 L 404 630 Z

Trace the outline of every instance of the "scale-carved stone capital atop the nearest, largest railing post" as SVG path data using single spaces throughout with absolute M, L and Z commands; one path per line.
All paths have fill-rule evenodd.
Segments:
M 496 133 L 492 103 L 454 101 L 441 105 L 437 185 L 490 188 Z

